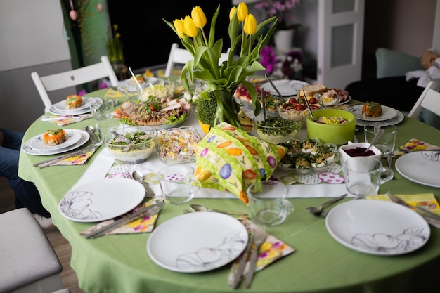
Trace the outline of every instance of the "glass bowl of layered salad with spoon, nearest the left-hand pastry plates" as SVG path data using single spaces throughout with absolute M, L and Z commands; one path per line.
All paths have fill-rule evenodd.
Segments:
M 131 140 L 131 143 L 125 143 L 111 131 L 105 134 L 103 138 L 105 147 L 119 163 L 138 164 L 145 162 L 155 150 L 157 130 L 151 127 L 122 124 L 113 130 Z

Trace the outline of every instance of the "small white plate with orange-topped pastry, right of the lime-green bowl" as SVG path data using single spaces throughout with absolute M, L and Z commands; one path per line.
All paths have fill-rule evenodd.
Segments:
M 397 112 L 394 108 L 390 108 L 376 102 L 365 102 L 361 105 L 348 107 L 346 110 L 353 112 L 356 119 L 364 121 L 385 121 L 396 117 Z

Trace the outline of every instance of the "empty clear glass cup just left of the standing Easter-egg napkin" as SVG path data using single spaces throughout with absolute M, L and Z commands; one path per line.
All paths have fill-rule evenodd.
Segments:
M 158 172 L 163 199 L 170 204 L 184 204 L 200 189 L 193 167 L 172 164 Z

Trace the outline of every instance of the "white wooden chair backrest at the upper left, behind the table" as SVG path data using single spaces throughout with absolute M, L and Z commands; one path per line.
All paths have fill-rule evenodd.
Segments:
M 100 63 L 84 66 L 75 70 L 46 75 L 45 77 L 40 77 L 38 72 L 32 72 L 31 77 L 44 103 L 45 112 L 48 112 L 52 106 L 51 99 L 48 96 L 49 91 L 65 89 L 106 77 L 110 79 L 111 86 L 119 85 L 115 71 L 113 71 L 107 56 L 101 56 Z

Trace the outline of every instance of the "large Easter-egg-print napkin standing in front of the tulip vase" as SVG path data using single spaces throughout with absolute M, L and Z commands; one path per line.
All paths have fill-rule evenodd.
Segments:
M 227 190 L 247 204 L 247 188 L 270 178 L 286 150 L 222 122 L 198 143 L 195 176 L 202 187 Z

